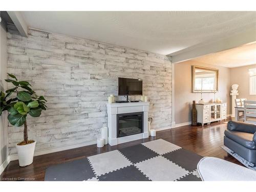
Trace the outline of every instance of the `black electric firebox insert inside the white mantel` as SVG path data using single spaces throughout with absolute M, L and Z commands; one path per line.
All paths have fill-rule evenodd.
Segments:
M 117 114 L 117 137 L 143 133 L 143 112 Z

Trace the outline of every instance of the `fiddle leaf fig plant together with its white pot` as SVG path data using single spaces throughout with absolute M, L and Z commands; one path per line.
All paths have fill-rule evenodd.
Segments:
M 27 116 L 39 117 L 42 110 L 46 110 L 46 99 L 37 96 L 31 89 L 32 86 L 27 81 L 18 79 L 9 74 L 9 79 L 5 79 L 14 85 L 12 89 L 1 91 L 0 115 L 3 111 L 8 111 L 8 120 L 14 126 L 24 125 L 24 140 L 16 144 L 19 166 L 27 166 L 33 163 L 35 140 L 28 139 Z

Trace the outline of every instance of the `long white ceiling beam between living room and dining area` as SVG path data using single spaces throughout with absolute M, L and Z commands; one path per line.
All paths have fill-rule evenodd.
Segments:
M 246 30 L 242 33 L 232 35 L 227 38 L 220 39 L 218 41 L 198 44 L 193 47 L 186 48 L 184 50 L 169 54 L 172 56 L 173 63 L 197 58 L 210 53 L 217 53 L 228 49 L 236 48 L 250 42 L 256 41 L 256 29 Z

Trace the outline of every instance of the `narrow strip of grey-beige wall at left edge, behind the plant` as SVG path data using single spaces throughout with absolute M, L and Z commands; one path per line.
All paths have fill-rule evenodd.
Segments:
M 5 26 L 1 25 L 0 27 L 0 88 L 1 91 L 7 89 L 7 83 L 5 79 L 7 78 L 7 36 Z M 0 116 L 0 174 L 3 171 L 3 166 L 1 165 L 7 159 L 8 156 L 8 122 L 7 122 L 7 113 L 6 111 Z

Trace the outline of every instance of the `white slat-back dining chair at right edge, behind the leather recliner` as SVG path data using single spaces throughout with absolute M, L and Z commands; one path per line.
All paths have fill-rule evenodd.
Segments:
M 244 122 L 256 124 L 256 101 L 244 101 Z

